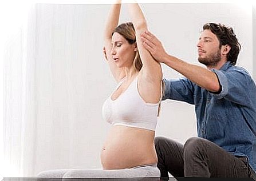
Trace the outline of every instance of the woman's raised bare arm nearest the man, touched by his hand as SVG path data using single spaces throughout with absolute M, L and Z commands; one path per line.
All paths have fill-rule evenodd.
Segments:
M 140 71 L 141 79 L 139 79 L 138 84 L 139 92 L 145 102 L 156 103 L 159 102 L 162 95 L 162 68 L 160 63 L 153 59 L 152 55 L 142 44 L 140 35 L 148 30 L 143 11 L 137 3 L 129 4 L 128 9 L 133 26 L 135 27 L 137 48 L 143 63 Z

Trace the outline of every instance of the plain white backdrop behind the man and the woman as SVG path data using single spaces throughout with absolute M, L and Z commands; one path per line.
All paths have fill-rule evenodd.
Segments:
M 238 65 L 253 73 L 251 5 L 146 3 L 148 27 L 166 50 L 197 63 L 196 42 L 206 22 L 234 27 L 242 45 Z M 57 168 L 100 168 L 109 125 L 101 106 L 116 86 L 104 62 L 109 5 L 31 7 L 6 45 L 4 67 L 5 177 L 36 176 Z M 127 9 L 121 22 L 128 21 Z M 164 77 L 180 75 L 163 65 Z M 156 135 L 184 143 L 196 135 L 194 107 L 167 100 Z

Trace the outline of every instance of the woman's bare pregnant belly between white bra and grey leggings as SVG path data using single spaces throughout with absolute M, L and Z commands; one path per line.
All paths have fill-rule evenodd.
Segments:
M 157 163 L 154 131 L 113 126 L 101 150 L 104 169 L 132 168 Z

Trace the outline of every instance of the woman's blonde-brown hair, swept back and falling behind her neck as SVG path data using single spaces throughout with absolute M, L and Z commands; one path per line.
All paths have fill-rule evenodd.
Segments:
M 134 28 L 132 22 L 120 24 L 119 26 L 117 26 L 115 28 L 112 35 L 115 32 L 122 35 L 128 41 L 129 44 L 132 45 L 133 43 L 136 43 L 135 28 Z M 142 62 L 140 59 L 139 51 L 136 51 L 135 58 L 133 59 L 133 65 L 135 66 L 137 71 L 140 71 L 140 69 L 142 67 Z

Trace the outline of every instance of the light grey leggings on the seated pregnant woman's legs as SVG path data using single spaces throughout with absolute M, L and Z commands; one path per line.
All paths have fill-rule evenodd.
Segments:
M 62 169 L 42 171 L 38 178 L 160 178 L 156 164 L 125 168 L 120 170 Z

